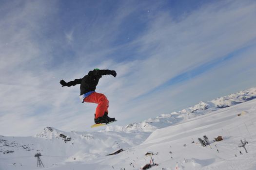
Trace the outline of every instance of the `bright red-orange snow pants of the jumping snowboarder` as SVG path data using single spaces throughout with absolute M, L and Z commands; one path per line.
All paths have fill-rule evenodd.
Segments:
M 97 119 L 98 117 L 102 117 L 105 112 L 108 112 L 108 100 L 104 94 L 93 92 L 89 96 L 84 98 L 83 101 L 94 102 L 98 104 L 95 112 L 95 119 Z

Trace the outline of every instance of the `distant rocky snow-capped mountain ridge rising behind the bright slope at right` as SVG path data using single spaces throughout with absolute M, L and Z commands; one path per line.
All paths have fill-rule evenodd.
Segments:
M 213 111 L 230 107 L 239 103 L 256 99 L 256 87 L 248 90 L 239 91 L 235 94 L 220 97 L 208 102 L 199 102 L 198 104 L 170 114 L 162 114 L 154 119 L 147 119 L 139 123 L 131 123 L 127 126 L 108 126 L 105 130 L 117 132 L 153 132 L 156 129 L 167 127 L 195 118 Z

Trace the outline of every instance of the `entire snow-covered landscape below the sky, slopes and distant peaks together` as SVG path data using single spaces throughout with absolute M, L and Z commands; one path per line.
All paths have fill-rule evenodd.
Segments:
M 37 170 L 36 153 L 47 170 L 139 170 L 152 159 L 151 170 L 256 170 L 255 97 L 251 88 L 104 132 L 46 127 L 35 136 L 0 136 L 0 170 Z M 203 136 L 210 145 L 200 145 Z M 217 136 L 224 140 L 214 142 Z

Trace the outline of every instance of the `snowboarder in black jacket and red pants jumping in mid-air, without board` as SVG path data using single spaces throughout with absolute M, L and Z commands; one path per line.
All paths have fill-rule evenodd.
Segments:
M 75 79 L 74 81 L 66 83 L 64 80 L 60 80 L 60 84 L 63 86 L 71 86 L 80 84 L 80 101 L 81 102 L 93 102 L 97 103 L 96 113 L 94 117 L 94 122 L 98 123 L 109 123 L 115 121 L 115 118 L 108 117 L 108 100 L 104 94 L 95 92 L 96 86 L 98 85 L 98 80 L 103 75 L 113 75 L 117 76 L 115 70 L 109 69 L 98 69 L 95 68 L 88 72 L 81 79 Z

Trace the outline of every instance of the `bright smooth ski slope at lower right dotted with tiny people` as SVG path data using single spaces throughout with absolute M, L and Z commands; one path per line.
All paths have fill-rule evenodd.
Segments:
M 197 138 L 204 135 L 210 139 L 210 146 L 197 143 Z M 224 140 L 214 142 L 217 136 L 223 136 Z M 238 147 L 244 138 L 249 142 L 247 154 Z M 159 152 L 156 162 L 170 170 L 176 167 L 176 162 L 179 170 L 256 170 L 256 100 L 158 129 L 139 147 Z

